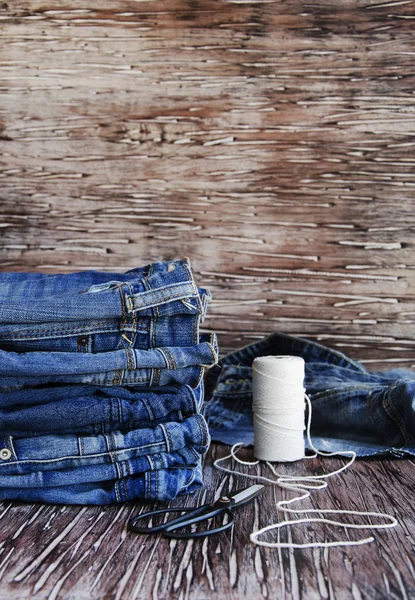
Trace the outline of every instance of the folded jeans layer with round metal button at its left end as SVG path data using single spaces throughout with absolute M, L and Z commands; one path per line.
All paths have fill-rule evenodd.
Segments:
M 186 447 L 204 454 L 209 443 L 209 431 L 201 414 L 182 423 L 169 421 L 126 433 L 112 431 L 92 436 L 62 434 L 19 439 L 6 435 L 1 440 L 0 482 L 6 475 L 25 475 L 34 471 L 59 473 L 64 469 L 112 463 L 126 476 L 130 473 L 128 461 Z

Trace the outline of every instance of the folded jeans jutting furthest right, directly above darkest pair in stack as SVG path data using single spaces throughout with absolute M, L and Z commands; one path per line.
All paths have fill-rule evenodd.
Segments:
M 212 367 L 217 360 L 215 334 L 202 335 L 200 343 L 193 346 L 126 348 L 98 354 L 0 350 L 0 390 L 45 383 L 168 385 L 188 383 L 189 379 L 193 383 L 196 379 L 198 385 L 203 368 Z

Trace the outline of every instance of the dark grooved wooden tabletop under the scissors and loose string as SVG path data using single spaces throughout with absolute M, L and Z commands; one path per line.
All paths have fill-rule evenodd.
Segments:
M 239 478 L 212 468 L 212 460 L 226 453 L 226 446 L 215 444 L 205 461 L 206 489 L 172 505 L 196 506 L 244 488 Z M 244 450 L 241 456 L 252 459 L 252 450 Z M 279 470 L 297 475 L 328 472 L 341 462 L 322 459 L 305 466 L 301 461 L 279 465 Z M 266 467 L 261 466 L 260 471 L 267 474 Z M 254 529 L 281 519 L 275 502 L 284 492 L 275 486 L 267 486 L 261 499 L 235 512 L 232 531 L 195 541 L 128 532 L 129 517 L 148 509 L 139 502 L 107 507 L 4 502 L 0 513 L 0 597 L 282 598 L 284 581 L 287 599 L 414 598 L 414 485 L 413 461 L 355 463 L 332 480 L 327 491 L 316 492 L 311 502 L 302 506 L 382 511 L 396 516 L 398 527 L 376 532 L 375 542 L 365 546 L 283 550 L 281 564 L 277 550 L 249 542 Z M 368 537 L 366 531 L 303 527 L 286 539 L 304 543 L 330 541 L 334 536 Z

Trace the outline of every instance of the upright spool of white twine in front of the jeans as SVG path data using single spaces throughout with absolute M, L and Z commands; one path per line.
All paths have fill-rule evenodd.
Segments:
M 304 359 L 260 356 L 252 364 L 254 453 L 259 460 L 304 458 Z

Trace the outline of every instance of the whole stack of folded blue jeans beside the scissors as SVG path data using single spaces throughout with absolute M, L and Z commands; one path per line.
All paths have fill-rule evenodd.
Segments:
M 202 484 L 214 334 L 187 259 L 0 274 L 0 499 L 108 504 Z

